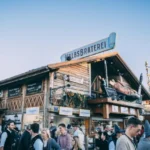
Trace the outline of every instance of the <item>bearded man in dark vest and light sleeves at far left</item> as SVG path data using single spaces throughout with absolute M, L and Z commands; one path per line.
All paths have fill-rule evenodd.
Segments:
M 12 150 L 12 146 L 15 143 L 14 134 L 15 123 L 10 120 L 7 123 L 6 130 L 2 133 L 0 141 L 0 150 Z

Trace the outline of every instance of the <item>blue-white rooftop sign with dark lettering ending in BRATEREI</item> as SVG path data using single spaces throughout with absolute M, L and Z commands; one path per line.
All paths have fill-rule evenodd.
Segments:
M 61 56 L 61 61 L 75 60 L 113 49 L 115 47 L 115 42 L 116 33 L 111 33 L 108 38 L 63 54 Z

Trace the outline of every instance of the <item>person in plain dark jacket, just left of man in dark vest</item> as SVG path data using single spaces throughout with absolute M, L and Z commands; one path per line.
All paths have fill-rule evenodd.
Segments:
M 24 133 L 20 138 L 18 150 L 28 150 L 30 146 L 30 141 L 31 141 L 31 128 L 30 125 L 28 125 L 27 129 L 24 131 Z

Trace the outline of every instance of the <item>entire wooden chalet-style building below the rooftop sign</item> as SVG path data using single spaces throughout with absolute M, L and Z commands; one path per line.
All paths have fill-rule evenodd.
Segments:
M 99 122 L 123 128 L 128 117 L 141 117 L 140 100 L 150 96 L 141 86 L 139 101 L 125 94 L 118 97 L 118 87 L 126 97 L 139 90 L 139 80 L 117 52 L 50 64 L 0 81 L 1 120 L 4 115 L 8 120 L 18 114 L 22 128 L 32 122 L 48 127 L 50 120 L 56 125 L 78 122 L 87 134 Z

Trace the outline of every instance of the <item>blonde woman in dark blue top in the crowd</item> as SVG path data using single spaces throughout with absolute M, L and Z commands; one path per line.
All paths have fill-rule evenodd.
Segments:
M 60 146 L 50 137 L 50 131 L 48 129 L 43 129 L 41 133 L 44 143 L 43 150 L 60 150 Z

